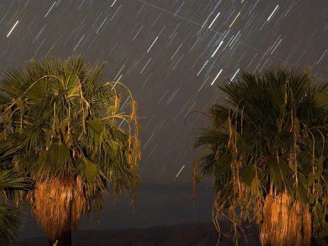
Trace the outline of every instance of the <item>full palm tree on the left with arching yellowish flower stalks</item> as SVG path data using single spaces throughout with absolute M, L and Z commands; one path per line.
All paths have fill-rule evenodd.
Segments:
M 21 146 L 13 166 L 35 182 L 32 213 L 50 244 L 71 244 L 80 215 L 100 208 L 107 186 L 134 198 L 140 142 L 136 103 L 120 82 L 101 80 L 105 64 L 83 57 L 29 61 L 1 80 L 0 140 Z M 115 85 L 126 92 L 118 94 Z M 131 110 L 120 112 L 128 95 Z M 126 122 L 122 129 L 117 120 Z

